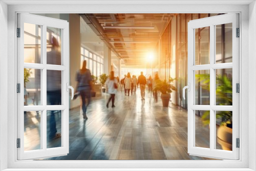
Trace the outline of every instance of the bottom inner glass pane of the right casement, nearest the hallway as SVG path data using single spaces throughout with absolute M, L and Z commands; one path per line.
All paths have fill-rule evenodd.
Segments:
M 210 111 L 195 111 L 195 146 L 210 148 Z

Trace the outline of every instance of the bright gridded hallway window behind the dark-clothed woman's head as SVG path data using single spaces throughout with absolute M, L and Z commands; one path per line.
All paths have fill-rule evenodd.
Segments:
M 87 68 L 95 76 L 100 76 L 103 73 L 103 58 L 102 56 L 81 47 L 81 67 L 83 60 L 87 61 Z

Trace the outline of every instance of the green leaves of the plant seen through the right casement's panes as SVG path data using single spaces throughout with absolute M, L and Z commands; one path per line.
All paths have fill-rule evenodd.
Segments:
M 206 84 L 202 87 L 208 92 L 210 91 L 210 75 L 209 74 L 196 74 L 196 81 L 201 84 Z M 227 76 L 216 76 L 216 104 L 217 105 L 232 105 L 232 80 Z M 217 111 L 216 118 L 221 118 L 221 125 L 232 124 L 232 112 L 230 111 Z M 205 111 L 202 115 L 202 122 L 207 125 L 210 123 L 210 111 Z

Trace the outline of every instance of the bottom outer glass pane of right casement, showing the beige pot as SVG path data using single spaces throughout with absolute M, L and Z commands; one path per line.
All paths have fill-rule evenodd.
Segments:
M 232 112 L 216 112 L 216 149 L 232 151 Z

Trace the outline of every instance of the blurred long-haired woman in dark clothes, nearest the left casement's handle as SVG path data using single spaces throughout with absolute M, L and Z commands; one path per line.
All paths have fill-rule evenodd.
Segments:
M 82 63 L 82 69 L 76 73 L 77 87 L 75 92 L 79 92 L 82 99 L 82 115 L 83 119 L 88 119 L 86 115 L 87 108 L 91 102 L 91 92 L 94 91 L 94 84 L 92 81 L 92 74 L 89 69 L 86 68 L 86 60 Z M 87 104 L 86 104 L 87 98 Z

